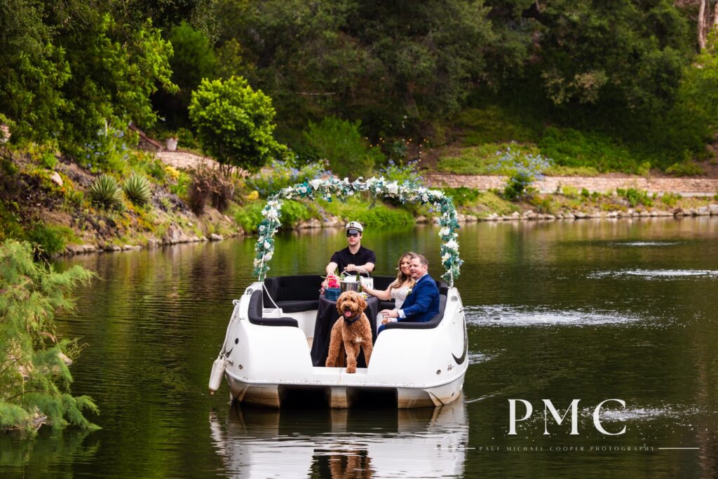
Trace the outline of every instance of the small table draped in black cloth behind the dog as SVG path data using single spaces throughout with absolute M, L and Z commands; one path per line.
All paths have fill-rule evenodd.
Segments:
M 379 300 L 370 296 L 366 298 L 366 310 L 364 314 L 369 320 L 371 326 L 371 340 L 376 341 L 376 316 L 379 314 Z M 314 323 L 314 339 L 312 340 L 312 364 L 314 366 L 324 367 L 327 363 L 327 355 L 329 355 L 329 343 L 332 340 L 332 327 L 339 319 L 337 311 L 337 302 L 327 299 L 324 294 L 320 294 L 319 307 L 317 308 L 317 322 Z M 359 353 L 357 359 L 357 367 L 365 368 L 364 350 Z

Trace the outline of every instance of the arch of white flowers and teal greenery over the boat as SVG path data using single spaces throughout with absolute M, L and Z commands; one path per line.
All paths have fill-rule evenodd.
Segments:
M 332 196 L 343 200 L 354 195 L 355 192 L 368 192 L 373 197 L 396 198 L 401 203 L 407 201 L 422 205 L 432 203 L 434 208 L 442 214 L 439 218 L 439 226 L 441 226 L 439 238 L 442 239 L 442 266 L 446 270 L 442 274 L 442 278 L 449 283 L 449 287 L 454 286 L 454 279 L 459 276 L 463 261 L 459 258 L 459 243 L 456 241 L 459 235 L 455 232 L 459 228 L 459 223 L 456 220 L 456 208 L 454 208 L 451 197 L 444 195 L 444 192 L 440 190 L 429 190 L 409 182 L 399 185 L 398 182 L 387 181 L 384 177 L 373 177 L 365 181 L 360 177 L 353 182 L 347 178 L 344 180 L 334 177 L 326 180 L 316 179 L 283 188 L 267 198 L 266 206 L 262 210 L 264 220 L 259 223 L 257 243 L 254 247 L 256 251 L 254 274 L 258 276 L 258 280 L 264 281 L 267 271 L 269 271 L 269 261 L 274 256 L 274 235 L 281 225 L 280 210 L 284 200 L 299 198 L 313 200 L 315 197 L 321 197 L 331 201 Z

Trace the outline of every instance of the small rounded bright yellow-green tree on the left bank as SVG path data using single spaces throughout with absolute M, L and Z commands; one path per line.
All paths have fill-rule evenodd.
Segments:
M 229 175 L 232 167 L 256 170 L 284 147 L 274 139 L 274 107 L 247 80 L 202 80 L 192 92 L 190 119 L 202 149 L 215 157 Z

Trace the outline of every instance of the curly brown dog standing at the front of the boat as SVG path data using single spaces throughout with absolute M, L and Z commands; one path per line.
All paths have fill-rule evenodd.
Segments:
M 369 366 L 373 346 L 371 344 L 371 325 L 364 314 L 365 309 L 366 302 L 358 292 L 343 292 L 337 299 L 337 311 L 340 318 L 332 327 L 327 368 L 344 366 L 346 351 L 347 372 L 355 373 L 359 348 L 364 348 L 366 366 Z

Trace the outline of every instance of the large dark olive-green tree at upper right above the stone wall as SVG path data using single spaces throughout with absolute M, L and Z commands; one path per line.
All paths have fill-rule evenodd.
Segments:
M 521 32 L 528 45 L 516 80 L 529 96 L 540 89 L 564 117 L 591 116 L 621 131 L 675 101 L 693 44 L 688 19 L 671 1 L 487 3 L 496 28 Z M 516 86 L 505 83 L 511 93 Z

